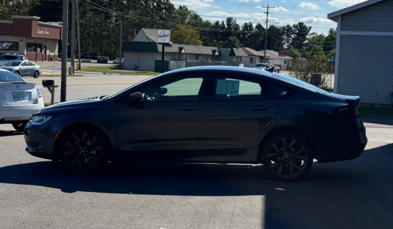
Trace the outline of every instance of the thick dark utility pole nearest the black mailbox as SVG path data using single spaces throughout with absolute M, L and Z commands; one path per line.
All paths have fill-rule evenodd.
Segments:
M 61 89 L 60 102 L 66 101 L 67 92 L 67 36 L 68 36 L 68 0 L 63 0 L 63 25 L 61 45 Z

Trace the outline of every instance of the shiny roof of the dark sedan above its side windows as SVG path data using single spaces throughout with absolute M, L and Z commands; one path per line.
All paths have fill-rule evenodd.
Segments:
M 177 70 L 167 71 L 164 74 L 173 74 L 173 73 L 187 73 L 193 71 L 231 71 L 233 73 L 249 73 L 253 75 L 261 75 L 266 77 L 271 77 L 273 75 L 270 71 L 264 71 L 255 68 L 244 68 L 237 66 L 197 66 L 197 67 L 188 67 L 188 68 L 180 68 Z

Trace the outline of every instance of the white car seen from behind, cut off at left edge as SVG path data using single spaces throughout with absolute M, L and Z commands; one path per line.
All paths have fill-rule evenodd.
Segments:
M 44 100 L 37 84 L 0 69 L 0 124 L 11 123 L 15 130 L 22 132 L 31 114 L 41 108 Z

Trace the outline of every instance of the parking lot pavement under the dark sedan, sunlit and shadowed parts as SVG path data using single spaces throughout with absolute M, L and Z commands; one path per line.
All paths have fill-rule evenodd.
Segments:
M 0 228 L 391 228 L 393 126 L 369 122 L 362 156 L 314 163 L 296 183 L 270 180 L 261 165 L 70 174 L 29 156 L 23 134 L 0 125 Z

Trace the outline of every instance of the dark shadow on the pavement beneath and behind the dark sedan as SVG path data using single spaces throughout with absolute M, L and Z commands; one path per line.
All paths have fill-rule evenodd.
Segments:
M 262 165 L 108 165 L 77 175 L 40 161 L 0 168 L 0 183 L 132 195 L 265 196 L 265 228 L 388 228 L 393 223 L 393 144 L 365 150 L 350 161 L 314 163 L 294 183 L 266 177 Z M 43 197 L 44 198 L 44 197 Z M 247 204 L 247 203 L 244 203 Z

